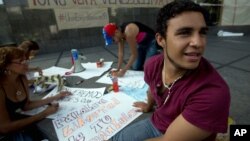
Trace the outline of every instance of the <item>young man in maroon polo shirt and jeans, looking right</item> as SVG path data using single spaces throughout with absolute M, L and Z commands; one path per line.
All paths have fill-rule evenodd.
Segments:
M 144 67 L 148 102 L 136 102 L 152 116 L 126 127 L 112 141 L 214 141 L 227 131 L 229 88 L 202 57 L 206 12 L 192 1 L 173 1 L 160 9 L 156 40 L 163 53 Z

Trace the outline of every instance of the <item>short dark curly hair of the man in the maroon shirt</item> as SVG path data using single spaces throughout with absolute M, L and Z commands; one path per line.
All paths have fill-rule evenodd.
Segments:
M 160 9 L 156 19 L 156 32 L 161 36 L 166 36 L 168 28 L 168 21 L 183 12 L 194 11 L 203 14 L 205 21 L 207 21 L 208 13 L 200 5 L 191 0 L 175 0 L 166 4 Z

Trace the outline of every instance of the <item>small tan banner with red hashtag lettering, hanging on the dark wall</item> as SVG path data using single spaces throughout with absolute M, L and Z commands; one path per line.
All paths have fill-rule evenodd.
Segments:
M 102 27 L 109 22 L 107 8 L 54 9 L 59 30 Z

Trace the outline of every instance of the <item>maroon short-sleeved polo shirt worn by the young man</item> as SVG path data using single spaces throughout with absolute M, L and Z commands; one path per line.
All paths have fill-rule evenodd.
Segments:
M 163 54 L 153 56 L 144 67 L 144 80 L 157 104 L 151 117 L 154 126 L 164 134 L 175 118 L 182 114 L 191 124 L 215 133 L 206 140 L 214 140 L 217 132 L 226 132 L 230 92 L 214 67 L 205 58 L 201 58 L 195 70 L 188 71 L 176 81 L 164 104 L 168 90 L 159 93 L 163 85 L 163 60 Z

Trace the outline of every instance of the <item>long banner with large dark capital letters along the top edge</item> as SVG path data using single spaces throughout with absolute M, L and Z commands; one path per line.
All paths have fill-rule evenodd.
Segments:
M 173 0 L 28 0 L 31 9 L 94 7 L 162 7 Z

